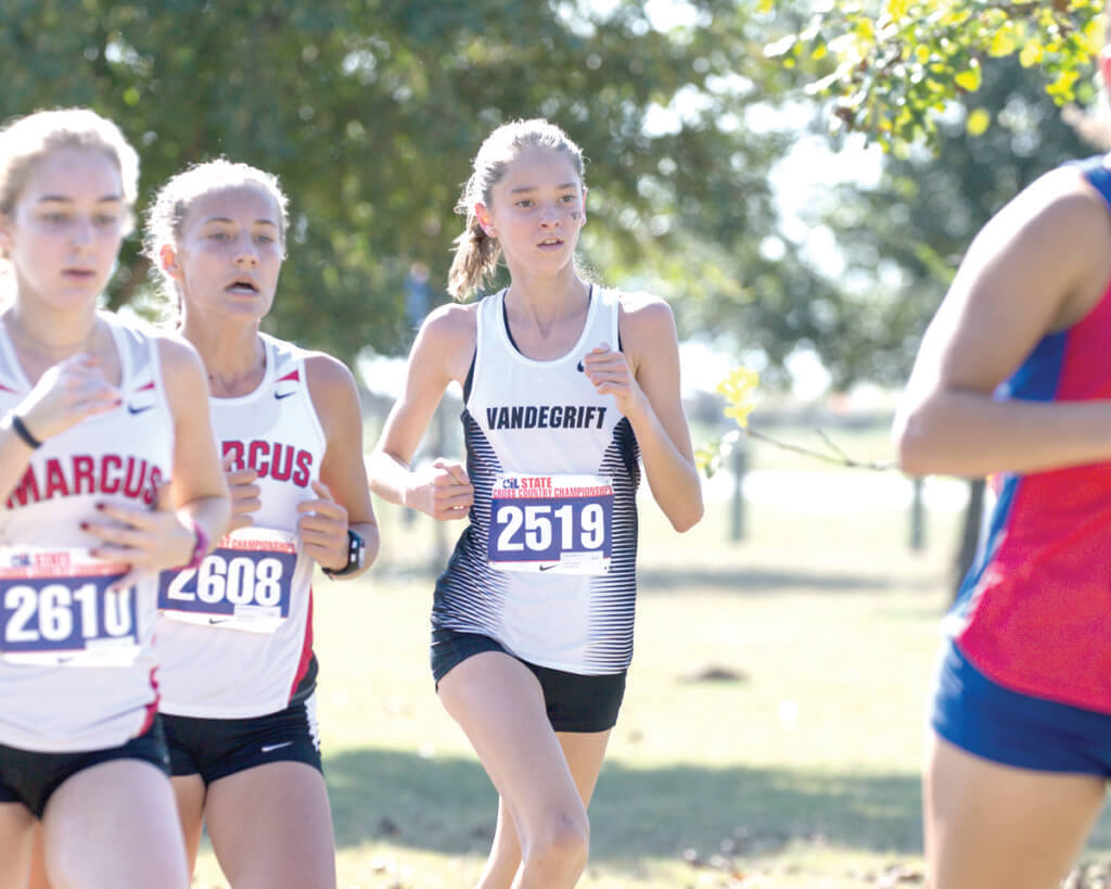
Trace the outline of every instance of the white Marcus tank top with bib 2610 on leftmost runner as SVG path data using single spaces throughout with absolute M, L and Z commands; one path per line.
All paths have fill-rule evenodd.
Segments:
M 152 332 L 100 316 L 123 404 L 43 442 L 0 510 L 0 743 L 40 752 L 118 747 L 153 718 L 153 580 L 119 593 L 126 566 L 92 559 L 96 505 L 151 506 L 173 462 L 173 418 Z M 0 412 L 30 391 L 0 324 Z

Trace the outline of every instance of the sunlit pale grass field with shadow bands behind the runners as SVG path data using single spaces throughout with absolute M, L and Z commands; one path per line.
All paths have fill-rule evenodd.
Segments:
M 496 795 L 428 670 L 434 529 L 376 503 L 370 576 L 319 581 L 326 772 L 340 887 L 473 885 Z M 645 500 L 637 652 L 591 806 L 581 886 L 862 889 L 921 872 L 919 769 L 952 516 L 762 507 L 729 543 Z M 453 541 L 461 526 L 447 529 Z M 700 681 L 714 668 L 733 680 Z M 1111 848 L 1104 819 L 1092 843 Z M 224 883 L 211 852 L 198 886 Z M 893 885 L 893 883 L 892 883 Z

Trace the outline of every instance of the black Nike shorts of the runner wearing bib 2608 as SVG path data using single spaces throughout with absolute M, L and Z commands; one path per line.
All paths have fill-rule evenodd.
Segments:
M 200 775 L 206 785 L 268 762 L 304 762 L 318 771 L 317 696 L 284 710 L 247 719 L 207 719 L 162 713 L 170 773 Z

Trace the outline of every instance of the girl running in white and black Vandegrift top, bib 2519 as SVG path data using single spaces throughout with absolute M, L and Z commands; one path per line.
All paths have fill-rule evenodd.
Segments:
M 543 120 L 483 142 L 459 202 L 449 290 L 499 256 L 510 283 L 437 309 L 371 462 L 371 487 L 437 519 L 469 516 L 436 587 L 432 673 L 498 789 L 480 885 L 573 886 L 587 805 L 632 657 L 639 461 L 679 531 L 702 516 L 667 303 L 584 280 L 582 152 Z M 409 466 L 452 381 L 467 466 Z

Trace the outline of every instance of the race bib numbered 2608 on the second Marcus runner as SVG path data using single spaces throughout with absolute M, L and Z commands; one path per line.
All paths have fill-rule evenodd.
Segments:
M 163 571 L 158 607 L 187 623 L 273 632 L 289 617 L 296 567 L 294 535 L 240 528 L 224 535 L 200 567 Z

